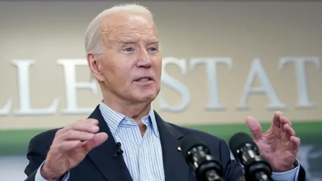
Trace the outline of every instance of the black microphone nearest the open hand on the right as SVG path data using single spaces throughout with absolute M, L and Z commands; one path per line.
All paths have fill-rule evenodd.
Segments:
M 237 162 L 244 166 L 247 181 L 272 181 L 270 163 L 260 156 L 258 146 L 248 134 L 234 134 L 229 147 Z

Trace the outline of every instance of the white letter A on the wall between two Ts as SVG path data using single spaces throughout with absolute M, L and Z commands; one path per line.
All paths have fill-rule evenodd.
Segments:
M 252 87 L 253 81 L 256 77 L 258 77 L 259 81 L 261 82 L 261 87 Z M 239 105 L 237 106 L 238 110 L 249 109 L 249 106 L 247 105 L 247 100 L 251 94 L 266 94 L 267 98 L 270 101 L 268 109 L 285 109 L 285 104 L 282 104 L 280 100 L 277 98 L 274 88 L 261 64 L 261 60 L 258 58 L 253 60 L 252 67 L 245 85 L 243 98 L 241 98 Z

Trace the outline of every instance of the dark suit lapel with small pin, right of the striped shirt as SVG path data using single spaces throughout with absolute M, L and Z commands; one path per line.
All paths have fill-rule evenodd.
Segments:
M 160 118 L 155 111 L 154 115 L 162 145 L 166 180 L 188 180 L 190 167 L 186 163 L 181 151 L 178 150 L 178 147 L 180 146 L 180 138 L 182 138 L 184 135 Z

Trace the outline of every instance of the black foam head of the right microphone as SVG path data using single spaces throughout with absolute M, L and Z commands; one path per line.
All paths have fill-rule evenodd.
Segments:
M 242 132 L 234 134 L 229 140 L 229 147 L 232 154 L 236 156 L 235 154 L 237 150 L 245 146 L 247 143 L 258 148 L 256 143 L 248 134 Z

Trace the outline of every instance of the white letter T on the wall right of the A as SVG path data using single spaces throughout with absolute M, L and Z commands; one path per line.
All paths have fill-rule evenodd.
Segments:
M 308 98 L 305 63 L 306 62 L 315 63 L 316 68 L 318 70 L 320 67 L 320 60 L 318 57 L 283 57 L 280 59 L 279 68 L 282 69 L 284 65 L 289 62 L 294 62 L 295 64 L 295 74 L 296 74 L 297 94 L 298 94 L 298 102 L 296 107 L 312 108 L 314 105 L 310 103 Z

